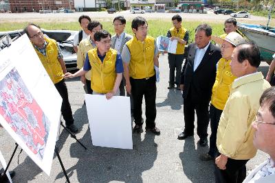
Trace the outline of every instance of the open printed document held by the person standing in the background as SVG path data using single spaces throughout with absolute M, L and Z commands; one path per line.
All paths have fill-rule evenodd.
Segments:
M 159 51 L 167 51 L 168 53 L 176 53 L 177 40 L 170 40 L 164 36 L 157 37 L 157 48 Z

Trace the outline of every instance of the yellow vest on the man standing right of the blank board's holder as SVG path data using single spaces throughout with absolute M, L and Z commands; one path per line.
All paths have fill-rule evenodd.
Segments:
M 129 75 L 134 79 L 144 79 L 155 75 L 154 70 L 154 52 L 155 39 L 151 36 L 146 36 L 142 42 L 134 36 L 126 42 L 131 53 L 129 64 Z

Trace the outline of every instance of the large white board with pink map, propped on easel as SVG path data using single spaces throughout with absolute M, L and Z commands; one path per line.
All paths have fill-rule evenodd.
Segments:
M 0 123 L 50 175 L 62 98 L 28 36 L 0 51 Z

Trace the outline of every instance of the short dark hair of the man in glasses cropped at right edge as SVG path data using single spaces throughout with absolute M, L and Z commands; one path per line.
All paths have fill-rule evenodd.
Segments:
M 267 88 L 263 92 L 263 95 L 260 98 L 260 106 L 263 107 L 265 103 L 270 106 L 269 110 L 272 116 L 275 118 L 275 86 Z

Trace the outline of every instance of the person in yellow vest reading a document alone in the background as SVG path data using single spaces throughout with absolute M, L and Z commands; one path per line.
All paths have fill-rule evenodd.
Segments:
M 189 32 L 187 29 L 181 26 L 181 16 L 179 16 L 179 14 L 176 14 L 172 17 L 172 22 L 174 27 L 168 30 L 166 37 L 171 38 L 171 40 L 177 40 L 177 49 L 176 53 L 168 53 L 168 62 L 170 69 L 168 89 L 173 89 L 176 84 L 176 89 L 180 90 L 179 84 L 181 75 L 181 65 L 182 62 L 184 62 L 184 48 L 188 42 Z

